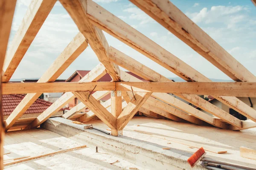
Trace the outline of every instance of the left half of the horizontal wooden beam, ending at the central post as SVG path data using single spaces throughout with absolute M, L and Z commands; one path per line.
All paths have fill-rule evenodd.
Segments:
M 115 82 L 28 82 L 3 83 L 3 94 L 57 93 L 69 91 L 111 91 Z

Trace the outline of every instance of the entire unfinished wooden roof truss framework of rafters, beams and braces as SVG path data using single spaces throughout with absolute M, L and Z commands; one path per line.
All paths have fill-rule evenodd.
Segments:
M 75 97 L 80 99 L 81 103 L 62 117 L 65 119 L 75 118 L 83 122 L 97 116 L 111 128 L 113 136 L 122 135 L 122 129 L 137 111 L 149 115 L 154 112 L 177 122 L 190 122 L 196 125 L 210 124 L 230 130 L 256 127 L 256 110 L 236 98 L 236 96 L 256 97 L 256 76 L 169 0 L 130 1 L 236 82 L 211 82 L 209 78 L 92 0 L 59 1 L 76 23 L 79 33 L 37 83 L 10 83 L 12 74 L 26 54 L 56 0 L 32 0 L 29 6 L 30 10 L 26 12 L 6 54 L 15 0 L 0 0 L 0 7 L 4 9 L 1 10 L 3 17 L 0 18 L 2 94 L 27 94 L 6 119 L 5 130 L 9 130 L 44 92 L 66 93 L 27 125 L 26 129 L 38 127 Z M 3 22 L 5 22 L 4 27 Z M 172 82 L 172 80 L 109 46 L 102 30 L 187 82 Z M 55 83 L 54 81 L 88 45 L 98 57 L 99 65 L 79 82 Z M 149 82 L 142 82 L 142 80 L 120 70 L 119 66 Z M 107 73 L 112 77 L 112 82 L 96 82 Z M 91 95 L 90 91 L 93 90 L 97 92 Z M 99 99 L 109 93 L 111 93 L 111 99 L 100 103 Z M 167 93 L 175 94 L 213 116 Z M 212 95 L 215 99 L 250 120 L 241 121 L 202 99 L 198 94 Z M 90 111 L 83 115 L 79 114 L 79 111 L 84 108 L 89 108 Z M 3 130 L 3 127 L 1 128 Z

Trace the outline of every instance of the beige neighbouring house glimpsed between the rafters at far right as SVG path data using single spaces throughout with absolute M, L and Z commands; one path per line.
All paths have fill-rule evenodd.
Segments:
M 255 97 L 237 97 L 239 100 L 256 110 L 256 98 Z M 221 103 L 217 99 L 215 99 L 212 96 L 208 96 L 208 102 L 211 102 L 213 105 L 217 106 L 218 108 L 221 108 L 222 110 L 226 111 L 227 113 L 232 114 L 236 118 L 240 120 L 247 120 L 247 118 L 237 111 L 233 110 L 232 108 L 229 108 L 227 105 Z M 202 110 L 203 111 L 203 110 Z M 206 111 L 203 111 L 204 113 L 207 113 Z M 209 113 L 208 113 L 209 114 Z

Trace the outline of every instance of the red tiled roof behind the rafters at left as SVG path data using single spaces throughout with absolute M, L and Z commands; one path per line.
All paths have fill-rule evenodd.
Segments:
M 3 115 L 10 115 L 25 96 L 25 94 L 2 95 Z M 50 105 L 52 105 L 52 102 L 37 99 L 25 113 L 42 113 Z

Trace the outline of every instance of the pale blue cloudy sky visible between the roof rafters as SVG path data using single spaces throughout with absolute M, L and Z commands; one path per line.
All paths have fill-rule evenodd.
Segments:
M 128 0 L 94 1 L 205 76 L 230 80 L 204 57 Z M 30 2 L 31 0 L 17 0 L 9 45 Z M 256 7 L 250 0 L 171 0 L 171 2 L 256 75 Z M 77 33 L 78 29 L 75 23 L 67 11 L 57 2 L 12 79 L 41 77 Z M 137 59 L 166 77 L 177 77 L 111 35 L 105 33 L 105 36 L 108 44 L 119 51 Z M 76 70 L 91 70 L 98 63 L 98 58 L 88 47 L 61 74 L 59 79 L 67 79 Z

